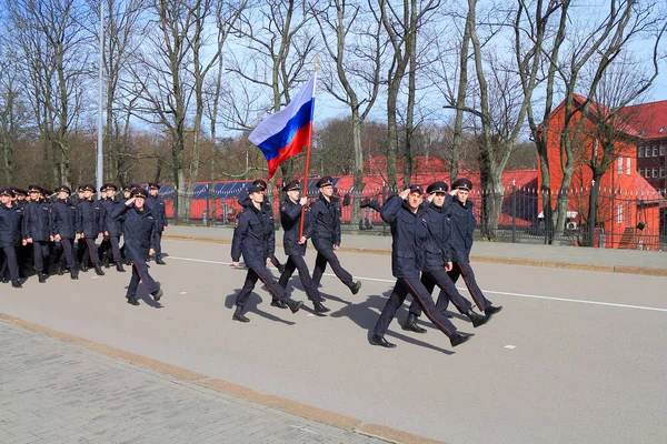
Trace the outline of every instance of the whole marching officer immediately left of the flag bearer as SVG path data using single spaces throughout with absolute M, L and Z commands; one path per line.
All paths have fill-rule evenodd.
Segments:
M 261 282 L 271 293 L 271 297 L 282 301 L 292 313 L 299 311 L 303 304 L 301 301 L 287 299 L 287 292 L 278 283 L 273 282 L 273 275 L 267 269 L 271 262 L 271 255 L 276 251 L 276 234 L 273 230 L 273 215 L 262 206 L 263 194 L 257 185 L 250 185 L 248 195 L 252 204 L 247 206 L 238 216 L 231 242 L 232 265 L 238 269 L 241 253 L 248 268 L 243 287 L 237 294 L 232 319 L 239 322 L 249 322 L 243 316 L 243 306 L 255 289 L 257 280 Z

